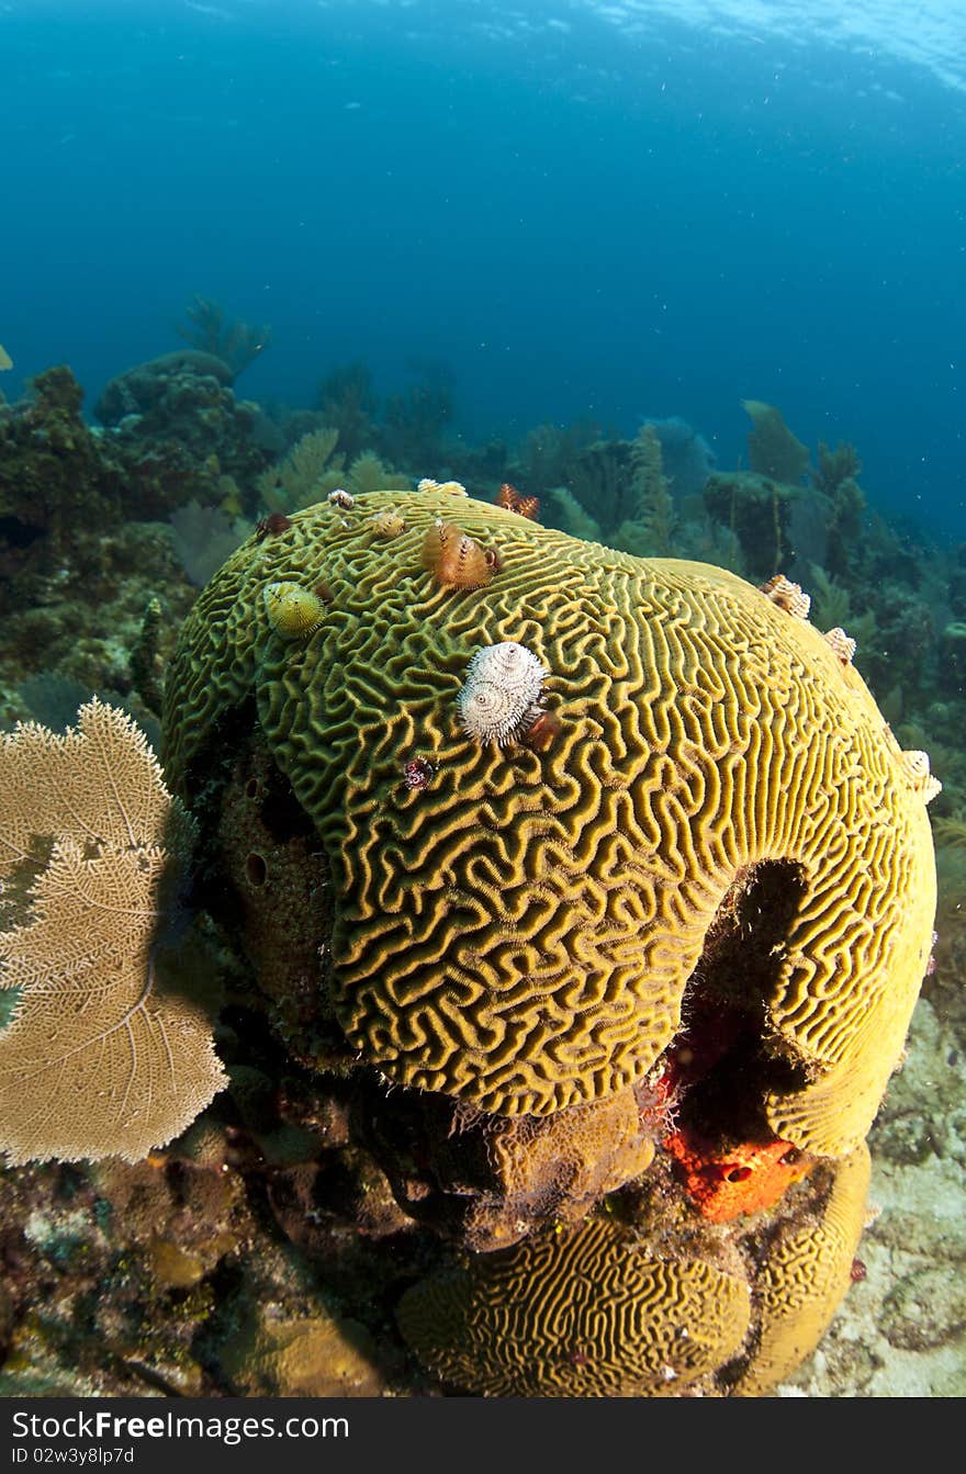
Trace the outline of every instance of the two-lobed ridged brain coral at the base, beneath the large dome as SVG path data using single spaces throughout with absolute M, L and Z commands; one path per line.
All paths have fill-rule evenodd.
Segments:
M 823 1163 L 764 1232 L 674 1243 L 665 1194 L 647 1182 L 650 1201 L 631 1222 L 557 1226 L 411 1285 L 397 1318 L 420 1362 L 485 1396 L 771 1390 L 816 1349 L 849 1285 L 866 1145 Z

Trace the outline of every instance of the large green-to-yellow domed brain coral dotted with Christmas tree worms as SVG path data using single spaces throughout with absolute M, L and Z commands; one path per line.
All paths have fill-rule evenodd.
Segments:
M 485 588 L 422 566 L 456 507 L 497 554 Z M 319 626 L 280 638 L 265 588 L 320 581 Z M 549 672 L 543 752 L 463 731 L 460 687 L 503 641 Z M 805 619 L 706 565 L 376 492 L 251 538 L 189 616 L 165 758 L 195 808 L 255 721 L 332 865 L 335 1016 L 385 1076 L 509 1116 L 625 1089 L 757 887 L 757 970 L 708 986 L 754 1023 L 761 1119 L 819 1154 L 866 1135 L 926 968 L 932 842 L 861 677 Z

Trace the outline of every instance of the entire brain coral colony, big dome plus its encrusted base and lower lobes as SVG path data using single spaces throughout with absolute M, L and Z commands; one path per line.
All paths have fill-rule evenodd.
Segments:
M 823 1334 L 935 907 L 932 780 L 844 650 L 432 482 L 292 514 L 189 616 L 167 777 L 350 1082 L 445 1386 L 760 1393 Z

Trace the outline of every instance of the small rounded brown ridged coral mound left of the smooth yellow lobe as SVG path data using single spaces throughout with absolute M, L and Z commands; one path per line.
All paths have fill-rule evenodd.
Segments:
M 712 1265 L 661 1260 L 591 1219 L 441 1271 L 406 1291 L 398 1321 L 422 1362 L 470 1391 L 619 1397 L 677 1390 L 727 1361 L 749 1297 Z

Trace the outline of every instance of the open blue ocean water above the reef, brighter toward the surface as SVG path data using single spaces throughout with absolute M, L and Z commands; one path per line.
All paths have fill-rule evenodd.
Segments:
M 723 466 L 758 398 L 965 537 L 966 7 L 839 12 L 0 0 L 3 388 L 91 404 L 201 293 L 271 324 L 254 398 L 442 363 L 470 439 L 680 414 Z

